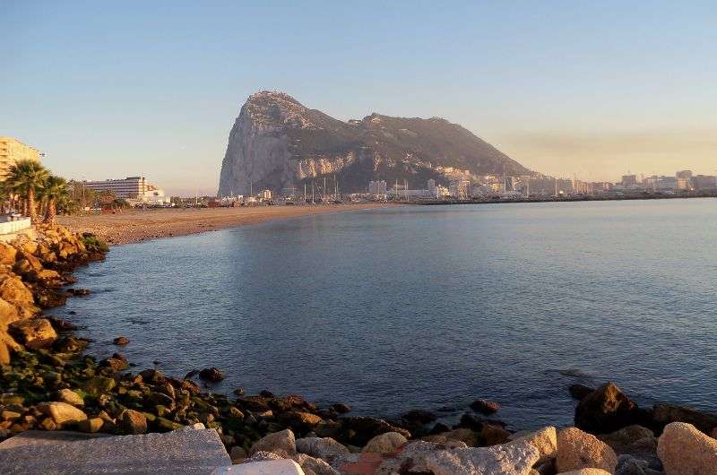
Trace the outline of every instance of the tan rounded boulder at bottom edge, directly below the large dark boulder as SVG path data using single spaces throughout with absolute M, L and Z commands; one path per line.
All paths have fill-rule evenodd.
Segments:
M 557 431 L 557 471 L 602 469 L 615 471 L 618 456 L 609 445 L 577 427 Z

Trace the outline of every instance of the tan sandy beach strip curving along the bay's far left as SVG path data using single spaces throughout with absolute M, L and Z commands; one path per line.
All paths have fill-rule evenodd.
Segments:
M 58 216 L 59 224 L 74 232 L 91 232 L 111 245 L 147 239 L 185 236 L 216 229 L 295 218 L 326 212 L 350 212 L 394 206 L 386 203 L 253 206 L 239 208 L 123 210 L 116 214 Z

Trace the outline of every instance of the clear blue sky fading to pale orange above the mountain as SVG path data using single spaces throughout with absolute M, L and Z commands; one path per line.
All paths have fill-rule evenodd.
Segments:
M 0 135 L 69 178 L 216 193 L 255 91 L 444 117 L 528 168 L 717 173 L 717 4 L 0 0 Z

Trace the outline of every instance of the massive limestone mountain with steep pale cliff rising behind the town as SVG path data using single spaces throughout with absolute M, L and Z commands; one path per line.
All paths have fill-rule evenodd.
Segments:
M 303 190 L 317 177 L 331 177 L 333 193 L 334 176 L 341 192 L 355 192 L 372 179 L 425 187 L 428 178 L 447 184 L 454 177 L 504 172 L 530 170 L 444 119 L 372 114 L 343 122 L 283 92 L 263 91 L 246 100 L 231 129 L 219 194 Z

